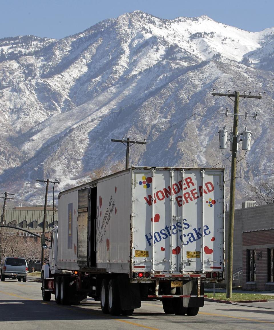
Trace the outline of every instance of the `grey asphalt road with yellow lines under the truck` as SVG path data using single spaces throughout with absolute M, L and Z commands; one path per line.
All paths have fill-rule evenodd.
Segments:
M 102 314 L 100 302 L 81 302 L 80 306 L 56 305 L 54 296 L 43 302 L 41 283 L 6 279 L 0 281 L 0 329 L 273 329 L 273 303 L 251 306 L 205 302 L 196 316 L 164 314 L 161 302 L 143 302 L 132 316 Z M 249 304 L 250 305 L 250 304 Z

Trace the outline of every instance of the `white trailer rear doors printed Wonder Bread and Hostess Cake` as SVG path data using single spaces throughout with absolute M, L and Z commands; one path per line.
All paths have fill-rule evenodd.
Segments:
M 223 270 L 223 174 L 215 169 L 134 169 L 134 271 Z

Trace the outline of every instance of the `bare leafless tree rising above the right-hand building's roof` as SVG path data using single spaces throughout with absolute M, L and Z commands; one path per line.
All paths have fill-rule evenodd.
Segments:
M 260 181 L 258 185 L 249 183 L 249 190 L 244 195 L 249 200 L 257 201 L 258 205 L 272 204 L 274 202 L 274 180 Z

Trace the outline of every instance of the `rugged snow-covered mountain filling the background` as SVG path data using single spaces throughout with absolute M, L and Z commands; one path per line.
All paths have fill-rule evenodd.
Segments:
M 239 160 L 273 172 L 273 82 L 274 28 L 248 32 L 207 16 L 135 11 L 61 40 L 0 39 L 0 190 L 43 203 L 36 178 L 58 178 L 57 192 L 124 161 L 111 138 L 146 139 L 130 148 L 131 165 L 213 167 L 225 159 L 217 132 L 233 123 L 216 112 L 234 107 L 213 88 L 262 94 L 240 103 L 258 116 L 239 120 L 253 133 Z M 238 176 L 254 175 L 248 164 L 239 161 Z M 228 178 L 230 162 L 222 166 Z M 238 180 L 239 202 L 251 179 Z

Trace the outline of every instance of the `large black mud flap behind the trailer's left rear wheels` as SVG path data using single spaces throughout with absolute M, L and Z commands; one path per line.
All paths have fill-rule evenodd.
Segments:
M 127 311 L 141 307 L 141 296 L 138 283 L 130 283 L 128 276 L 118 276 L 118 288 L 121 310 Z

